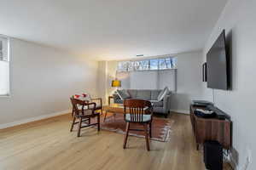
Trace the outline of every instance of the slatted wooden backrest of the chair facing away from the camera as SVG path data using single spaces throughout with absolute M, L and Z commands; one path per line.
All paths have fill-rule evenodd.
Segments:
M 145 110 L 152 109 L 151 102 L 144 99 L 125 99 L 124 101 L 124 111 L 131 114 L 131 122 L 143 122 L 143 115 L 148 112 Z

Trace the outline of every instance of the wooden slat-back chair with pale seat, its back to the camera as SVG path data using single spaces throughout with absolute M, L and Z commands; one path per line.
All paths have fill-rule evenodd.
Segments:
M 126 148 L 126 143 L 129 135 L 129 131 L 144 131 L 147 144 L 147 150 L 149 149 L 149 138 L 152 134 L 152 113 L 153 107 L 151 102 L 143 99 L 125 99 L 124 101 L 125 112 L 125 140 L 123 148 Z M 130 124 L 137 123 L 143 125 L 143 129 L 131 129 Z M 148 135 L 149 133 L 149 135 Z

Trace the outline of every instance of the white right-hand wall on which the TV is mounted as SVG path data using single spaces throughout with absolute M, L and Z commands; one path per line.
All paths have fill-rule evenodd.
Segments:
M 230 0 L 204 48 L 204 56 L 220 32 L 225 29 L 230 46 L 232 90 L 214 90 L 215 103 L 230 114 L 233 121 L 233 147 L 238 152 L 238 169 L 245 169 L 247 156 L 252 162 L 247 170 L 256 169 L 255 96 L 256 96 L 256 1 Z M 205 87 L 206 99 L 212 91 Z

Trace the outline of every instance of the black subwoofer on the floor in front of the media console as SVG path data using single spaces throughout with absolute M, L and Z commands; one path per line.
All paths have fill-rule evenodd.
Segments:
M 223 147 L 218 141 L 206 141 L 204 143 L 204 161 L 207 169 L 223 169 Z

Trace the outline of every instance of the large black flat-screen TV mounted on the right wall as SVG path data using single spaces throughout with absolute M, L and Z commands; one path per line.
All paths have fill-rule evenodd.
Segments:
M 207 88 L 229 88 L 229 62 L 225 47 L 225 32 L 218 36 L 207 53 Z

